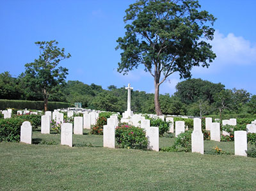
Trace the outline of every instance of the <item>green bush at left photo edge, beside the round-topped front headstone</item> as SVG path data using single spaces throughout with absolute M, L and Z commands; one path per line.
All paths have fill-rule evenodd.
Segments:
M 24 121 L 21 118 L 0 119 L 0 142 L 20 141 L 20 126 Z

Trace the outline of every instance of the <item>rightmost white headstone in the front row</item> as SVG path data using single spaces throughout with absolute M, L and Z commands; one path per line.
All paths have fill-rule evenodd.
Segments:
M 246 131 L 235 131 L 235 155 L 247 157 L 247 134 Z

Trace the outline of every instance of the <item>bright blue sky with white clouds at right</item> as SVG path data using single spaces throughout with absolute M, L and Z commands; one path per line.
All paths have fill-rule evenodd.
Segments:
M 13 77 L 38 58 L 37 41 L 57 40 L 72 57 L 61 62 L 67 80 L 98 84 L 106 89 L 131 83 L 134 90 L 154 93 L 154 80 L 143 68 L 122 75 L 116 72 L 120 50 L 116 40 L 124 36 L 125 10 L 135 0 L 10 0 L 0 1 L 0 73 Z M 199 1 L 217 18 L 212 49 L 217 58 L 209 68 L 193 68 L 192 77 L 221 82 L 228 89 L 246 89 L 256 95 L 255 0 Z M 183 80 L 183 79 L 182 79 Z M 180 82 L 174 73 L 160 93 L 175 92 Z

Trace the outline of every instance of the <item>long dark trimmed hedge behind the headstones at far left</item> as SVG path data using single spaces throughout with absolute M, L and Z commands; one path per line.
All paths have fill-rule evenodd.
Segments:
M 49 102 L 48 111 L 54 111 L 57 108 L 73 107 L 71 103 Z M 0 109 L 15 108 L 15 109 L 37 109 L 44 110 L 43 101 L 28 101 L 28 100 L 0 100 Z

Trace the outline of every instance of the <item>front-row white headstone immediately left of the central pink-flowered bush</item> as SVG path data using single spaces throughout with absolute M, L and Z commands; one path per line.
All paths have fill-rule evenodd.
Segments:
M 103 126 L 103 146 L 107 148 L 115 148 L 115 126 Z

